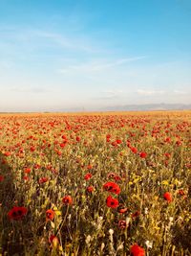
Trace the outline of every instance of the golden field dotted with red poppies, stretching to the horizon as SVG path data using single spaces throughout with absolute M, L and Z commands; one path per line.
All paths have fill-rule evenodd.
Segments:
M 2 255 L 191 255 L 191 111 L 0 115 Z

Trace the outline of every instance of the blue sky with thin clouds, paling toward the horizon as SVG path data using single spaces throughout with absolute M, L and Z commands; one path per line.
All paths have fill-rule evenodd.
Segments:
M 0 0 L 0 111 L 191 104 L 190 0 Z

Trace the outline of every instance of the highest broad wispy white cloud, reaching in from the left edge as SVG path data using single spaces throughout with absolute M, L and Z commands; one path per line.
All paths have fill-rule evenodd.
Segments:
M 95 40 L 82 34 L 71 34 L 68 31 L 62 33 L 52 32 L 51 30 L 38 30 L 32 27 L 0 27 L 1 39 L 15 45 L 32 45 L 38 47 L 41 45 L 53 46 L 58 49 L 68 49 L 86 53 L 98 53 L 100 47 L 96 45 Z M 19 44 L 18 44 L 19 43 Z

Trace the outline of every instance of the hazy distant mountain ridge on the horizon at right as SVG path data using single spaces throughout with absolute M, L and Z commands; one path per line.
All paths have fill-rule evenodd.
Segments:
M 183 104 L 147 104 L 147 105 L 116 105 L 104 107 L 103 111 L 152 111 L 152 110 L 191 110 L 191 105 Z

